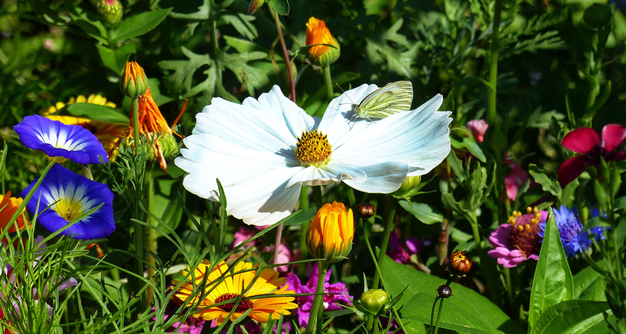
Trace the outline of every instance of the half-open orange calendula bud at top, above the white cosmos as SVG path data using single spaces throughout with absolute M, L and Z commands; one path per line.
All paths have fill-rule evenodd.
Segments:
M 334 46 L 334 48 L 315 44 L 328 44 Z M 312 61 L 322 67 L 329 66 L 337 61 L 339 54 L 341 54 L 337 39 L 331 35 L 331 32 L 326 28 L 326 23 L 321 19 L 309 18 L 307 23 L 307 45 L 315 45 L 309 49 L 309 56 Z

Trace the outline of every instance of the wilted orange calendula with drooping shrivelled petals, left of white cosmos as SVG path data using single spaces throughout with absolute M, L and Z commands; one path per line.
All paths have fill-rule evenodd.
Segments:
M 152 140 L 156 136 L 154 143 L 152 143 L 152 148 L 162 170 L 167 172 L 165 156 L 173 154 L 172 150 L 175 150 L 176 146 L 176 141 L 172 136 L 172 129 L 168 128 L 167 121 L 165 121 L 163 114 L 156 106 L 156 102 L 150 93 L 150 86 L 146 89 L 146 93 L 139 97 L 138 101 L 140 136 L 143 134 L 147 140 Z M 124 133 L 128 146 L 135 141 L 133 124 L 133 118 L 131 118 L 130 126 L 126 128 Z

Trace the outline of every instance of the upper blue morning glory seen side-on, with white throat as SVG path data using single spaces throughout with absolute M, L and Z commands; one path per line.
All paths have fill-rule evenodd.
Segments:
M 57 162 L 70 159 L 74 163 L 100 163 L 98 156 L 105 159 L 105 148 L 98 138 L 88 129 L 78 125 L 63 124 L 38 115 L 26 116 L 22 123 L 13 129 L 19 134 L 19 140 L 31 149 L 41 149 Z

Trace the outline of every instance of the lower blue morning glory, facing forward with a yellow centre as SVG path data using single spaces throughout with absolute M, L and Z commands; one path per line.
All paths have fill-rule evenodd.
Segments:
M 24 198 L 38 180 L 31 182 L 20 195 Z M 56 232 L 101 203 L 104 204 L 98 210 L 66 228 L 62 235 L 81 240 L 110 236 L 115 230 L 113 193 L 104 183 L 89 180 L 60 164 L 54 164 L 26 208 L 33 215 L 38 211 L 38 223 L 48 231 Z M 46 210 L 48 206 L 50 208 Z

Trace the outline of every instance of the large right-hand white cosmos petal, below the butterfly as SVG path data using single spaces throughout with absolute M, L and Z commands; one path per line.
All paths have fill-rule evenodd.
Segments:
M 410 176 L 424 175 L 450 151 L 449 111 L 437 111 L 443 98 L 437 94 L 412 111 L 380 119 L 333 147 L 332 158 L 352 166 L 401 161 Z

